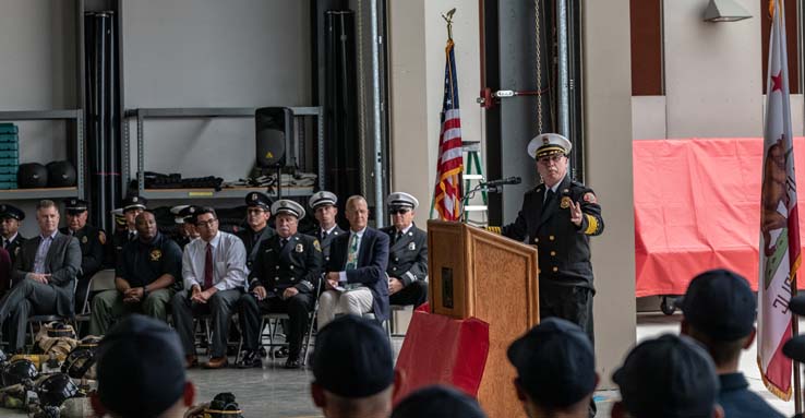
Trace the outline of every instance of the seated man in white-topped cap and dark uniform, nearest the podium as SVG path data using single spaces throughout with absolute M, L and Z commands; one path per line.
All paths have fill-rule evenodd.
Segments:
M 388 234 L 388 301 L 392 304 L 418 307 L 428 300 L 428 232 L 413 225 L 417 198 L 392 193 L 386 199 L 392 226 L 381 229 Z

